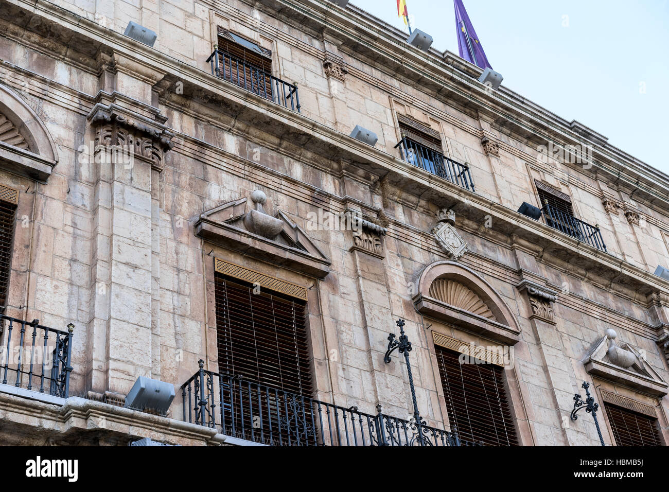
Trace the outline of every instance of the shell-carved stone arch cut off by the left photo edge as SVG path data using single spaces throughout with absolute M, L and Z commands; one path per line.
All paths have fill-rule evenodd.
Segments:
M 21 96 L 0 84 L 0 165 L 46 181 L 56 163 L 56 145 L 44 122 Z

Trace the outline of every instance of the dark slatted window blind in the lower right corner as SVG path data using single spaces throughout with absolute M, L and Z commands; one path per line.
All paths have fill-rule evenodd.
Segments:
M 606 404 L 616 446 L 661 446 L 656 418 Z

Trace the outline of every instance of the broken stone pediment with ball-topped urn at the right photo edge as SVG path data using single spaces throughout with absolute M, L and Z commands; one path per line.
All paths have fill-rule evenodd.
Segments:
M 607 329 L 591 343 L 583 359 L 588 374 L 654 398 L 668 394 L 669 385 L 646 362 L 642 351 L 629 343 L 615 343 L 616 336 L 615 331 Z

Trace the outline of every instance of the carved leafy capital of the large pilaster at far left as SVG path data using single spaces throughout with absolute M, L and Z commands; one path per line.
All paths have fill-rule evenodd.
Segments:
M 115 149 L 125 157 L 147 161 L 157 171 L 163 171 L 165 153 L 174 147 L 174 133 L 161 122 L 129 116 L 115 104 L 96 104 L 88 120 L 95 127 L 96 159 L 100 152 Z

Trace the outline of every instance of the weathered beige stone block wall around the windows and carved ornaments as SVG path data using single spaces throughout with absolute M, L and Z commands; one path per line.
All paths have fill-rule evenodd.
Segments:
M 609 253 L 620 262 L 650 272 L 669 264 L 669 214 L 662 206 L 633 199 L 582 165 L 542 163 L 531 139 L 395 78 L 380 62 L 354 58 L 327 35 L 300 32 L 268 8 L 255 10 L 242 1 L 55 3 L 98 23 L 104 18 L 117 33 L 128 20 L 138 21 L 157 31 L 156 50 L 205 72 L 211 33 L 216 25 L 227 27 L 272 50 L 275 75 L 298 82 L 304 118 L 346 135 L 356 124 L 367 127 L 379 136 L 377 149 L 393 161 L 400 138 L 396 113 L 409 114 L 442 135 L 448 156 L 471 164 L 478 195 L 511 210 L 522 201 L 539 206 L 533 180 L 543 180 L 572 197 L 579 218 L 599 224 Z M 235 127 L 229 124 L 235 118 L 230 108 L 201 94 L 180 94 L 174 84 L 181 81 L 179 74 L 110 55 L 114 46 L 101 46 L 98 56 L 59 58 L 58 42 L 52 50 L 38 50 L 34 42 L 18 42 L 21 27 L 5 32 L 10 34 L 0 37 L 0 83 L 35 107 L 60 158 L 47 183 L 0 170 L 0 182 L 21 191 L 8 312 L 53 327 L 76 325 L 71 394 L 125 394 L 140 375 L 178 387 L 197 370 L 200 358 L 215 370 L 213 258 L 218 257 L 310 287 L 310 347 L 316 396 L 322 400 L 355 404 L 369 413 L 381 403 L 388 414 L 409 416 L 405 366 L 397 357 L 383 362 L 388 332 L 396 331 L 396 319 L 406 319 L 419 408 L 430 424 L 448 428 L 430 332 L 465 343 L 490 342 L 415 311 L 417 275 L 447 259 L 429 233 L 442 203 L 419 193 L 408 177 L 405 185 L 389 183 L 364 165 L 300 152 L 290 139 L 276 139 L 264 128 Z M 326 75 L 326 52 L 343 58 L 343 79 Z M 167 79 L 170 84 L 159 86 Z M 219 84 L 227 90 L 225 82 Z M 153 104 L 167 118 L 175 145 L 161 169 L 140 159 L 131 169 L 118 162 L 96 164 L 90 155 L 82 159 L 81 146 L 90 149 L 96 137 L 96 124 L 87 118 L 99 101 L 96 95 L 114 90 L 130 98 L 119 104 L 136 111 L 149 111 L 145 106 Z M 250 105 L 258 104 L 248 97 Z M 498 144 L 498 156 L 486 154 L 484 136 Z M 195 236 L 200 214 L 248 197 L 254 189 L 268 195 L 270 213 L 281 210 L 307 230 L 332 262 L 324 280 Z M 607 202 L 605 208 L 604 198 L 613 205 Z M 460 203 L 463 215 L 469 205 L 466 199 Z M 381 257 L 351 251 L 350 231 L 309 230 L 310 212 L 339 213 L 347 207 L 385 222 Z M 458 212 L 456 228 L 468 244 L 460 263 L 492 286 L 520 325 L 506 376 L 522 444 L 597 442 L 589 419 L 565 417 L 573 393 L 592 379 L 583 366 L 585 353 L 608 327 L 619 340 L 645 351 L 647 363 L 669 380 L 656 343 L 662 309 L 652 307 L 647 292 L 607 284 L 580 259 L 544 254 L 515 234 L 500 233 L 496 224 L 461 218 Z M 545 234 L 547 240 L 561 236 Z M 527 297 L 516 288 L 527 278 L 557 293 L 554 324 L 533 318 Z M 611 383 L 599 384 L 614 389 Z M 666 398 L 658 403 L 624 386 L 615 391 L 656 406 L 665 439 L 669 436 Z M 178 401 L 173 412 L 180 412 Z M 611 443 L 608 430 L 605 440 Z

